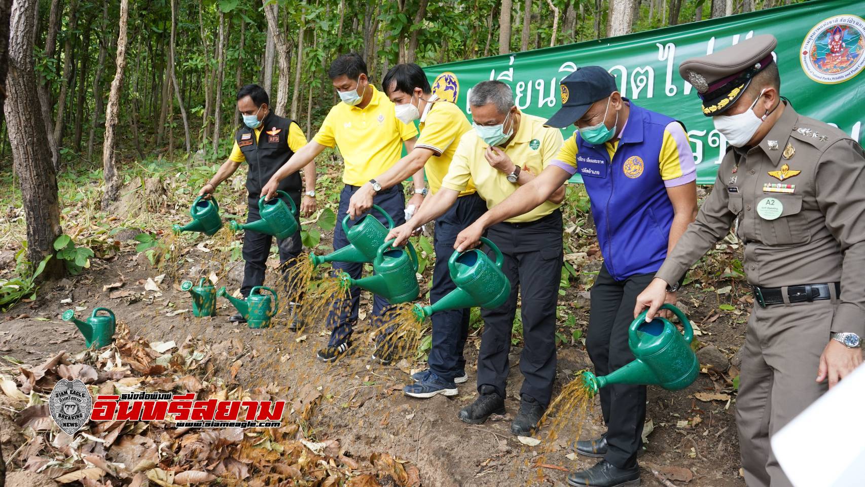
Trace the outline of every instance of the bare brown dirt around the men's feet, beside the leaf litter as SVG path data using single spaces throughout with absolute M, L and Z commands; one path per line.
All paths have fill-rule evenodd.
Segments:
M 189 256 L 195 259 L 195 253 Z M 597 262 L 595 264 L 597 267 Z M 74 324 L 61 321 L 61 313 L 74 305 L 85 306 L 86 311 L 78 313 L 81 316 L 96 306 L 107 306 L 128 324 L 132 335 L 143 336 L 148 341 L 182 343 L 189 335 L 207 340 L 212 349 L 220 351 L 215 368 L 209 371 L 211 376 L 248 388 L 277 382 L 292 387 L 295 393 L 307 384 L 320 387 L 324 400 L 311 420 L 308 433 L 319 441 L 339 439 L 354 455 L 389 452 L 394 457 L 404 458 L 419 466 L 420 478 L 426 486 L 562 485 L 566 483 L 568 470 L 585 468 L 595 461 L 566 457 L 567 443 L 573 439 L 570 438 L 573 432 L 561 432 L 560 439 L 535 447 L 520 444 L 509 432 L 509 419 L 519 407 L 518 390 L 522 381 L 516 367 L 519 346 L 511 349 L 507 418 L 471 426 L 457 420 L 457 413 L 477 394 L 474 382 L 474 363 L 480 341 L 477 332 L 466 347 L 469 381 L 460 386 L 460 394 L 453 398 L 437 396 L 431 400 L 413 400 L 404 396 L 400 389 L 408 381 L 407 373 L 422 364 L 402 362 L 400 368 L 371 362 L 366 339 L 370 330 L 364 328 L 368 326 L 368 318 L 362 319 L 360 329 L 356 330 L 352 355 L 334 365 L 325 365 L 314 360 L 315 351 L 327 339 L 321 321 L 317 320 L 300 333 L 288 332 L 283 326 L 251 330 L 227 321 L 234 308 L 224 299 L 220 299 L 216 317 L 195 318 L 190 312 L 167 316 L 191 308 L 189 294 L 176 289 L 169 279 L 160 285 L 161 296 L 145 292 L 144 285 L 139 283 L 157 273 L 146 260 L 127 251 L 110 262 L 93 260 L 93 266 L 86 275 L 43 288 L 34 303 L 19 304 L 10 313 L 0 316 L 0 356 L 36 365 L 61 350 L 78 352 L 83 349 L 83 338 Z M 272 276 L 273 272 L 269 274 Z M 120 289 L 131 291 L 131 296 L 109 298 L 110 292 L 103 291 L 103 286 L 118 282 L 121 276 L 125 284 Z M 736 290 L 733 292 L 735 294 Z M 702 330 L 698 339 L 732 356 L 744 340 L 743 314 L 719 311 L 717 298 L 714 292 L 697 291 L 688 286 L 680 301 Z M 71 304 L 61 304 L 64 299 L 71 299 Z M 570 289 L 567 296 L 560 299 L 560 304 L 567 304 L 578 324 L 587 323 L 585 292 Z M 740 307 L 737 305 L 737 310 Z M 573 372 L 591 367 L 585 348 L 579 342 L 561 345 L 558 354 L 557 388 L 570 381 Z M 4 366 L 13 364 L 6 358 L 0 362 Z M 647 419 L 654 429 L 648 436 L 646 452 L 640 458 L 645 485 L 659 484 L 646 465 L 688 469 L 693 479 L 687 485 L 744 485 L 739 477 L 735 394 L 729 381 L 734 374 L 734 370 L 724 375 L 701 374 L 693 385 L 677 392 L 649 388 Z M 730 394 L 732 399 L 703 401 L 697 400 L 695 393 Z M 10 462 L 9 469 L 14 471 L 22 465 L 20 458 L 11 457 L 20 446 L 22 436 L 7 431 L 16 427 L 8 420 L 8 409 L 3 409 L 3 415 L 7 418 L 0 425 L 3 426 L 0 440 L 4 456 Z M 599 405 L 595 400 L 587 414 L 582 436 L 593 438 L 602 431 Z M 546 433 L 541 431 L 536 436 L 545 439 Z M 535 466 L 539 461 L 544 466 Z M 676 484 L 684 485 L 681 481 Z

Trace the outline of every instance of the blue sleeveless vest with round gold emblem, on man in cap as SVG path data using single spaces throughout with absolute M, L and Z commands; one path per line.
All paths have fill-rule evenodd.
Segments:
M 673 222 L 658 156 L 663 131 L 674 119 L 630 106 L 612 161 L 605 144 L 589 144 L 576 134 L 577 172 L 592 200 L 606 269 L 616 280 L 657 272 Z

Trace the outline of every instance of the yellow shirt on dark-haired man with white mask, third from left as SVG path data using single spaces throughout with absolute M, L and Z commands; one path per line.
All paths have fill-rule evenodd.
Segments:
M 435 96 L 435 95 L 432 95 Z M 459 138 L 471 131 L 469 119 L 456 104 L 445 99 L 432 99 L 420 118 L 420 137 L 415 147 L 423 147 L 432 151 L 432 157 L 426 160 L 424 171 L 430 192 L 435 194 L 441 188 L 441 180 L 445 178 L 451 167 L 453 155 L 457 151 Z M 475 185 L 471 179 L 465 185 L 460 196 L 471 195 Z

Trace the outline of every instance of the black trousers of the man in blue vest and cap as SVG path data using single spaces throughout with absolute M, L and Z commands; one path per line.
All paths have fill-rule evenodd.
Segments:
M 612 279 L 602 266 L 592 286 L 592 310 L 586 349 L 595 367 L 595 375 L 607 375 L 634 360 L 628 347 L 628 327 L 634 321 L 637 296 L 654 279 L 655 274 L 638 274 L 623 281 Z M 646 416 L 646 388 L 631 384 L 612 384 L 601 388 L 600 407 L 606 432 L 606 461 L 619 468 L 637 462 L 643 446 L 643 422 Z

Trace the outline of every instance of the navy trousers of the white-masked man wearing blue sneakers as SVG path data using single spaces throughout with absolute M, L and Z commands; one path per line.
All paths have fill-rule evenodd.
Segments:
M 435 247 L 435 266 L 432 268 L 432 287 L 430 302 L 435 304 L 448 292 L 457 288 L 451 280 L 447 266 L 457 234 L 463 231 L 486 212 L 486 202 L 477 193 L 460 196 L 457 202 L 435 221 L 433 247 Z M 460 371 L 465 370 L 465 340 L 469 336 L 471 310 L 439 311 L 432 317 L 432 349 L 427 359 L 430 370 L 445 381 L 453 381 Z

